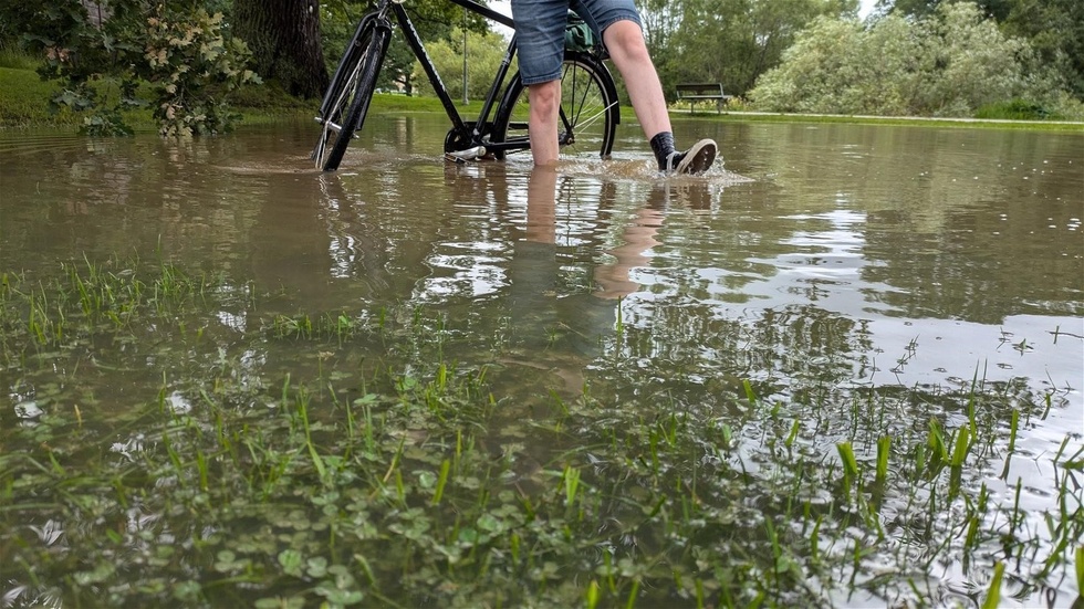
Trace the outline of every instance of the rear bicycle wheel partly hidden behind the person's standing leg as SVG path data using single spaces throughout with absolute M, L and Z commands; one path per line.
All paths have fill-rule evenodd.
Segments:
M 490 140 L 512 144 L 509 151 L 530 148 L 528 137 L 527 87 L 519 73 L 512 76 L 497 116 Z M 557 139 L 562 153 L 596 154 L 609 158 L 614 136 L 621 122 L 617 86 L 609 70 L 595 55 L 580 51 L 565 51 L 561 70 L 561 124 Z M 522 143 L 522 147 L 514 144 Z M 494 147 L 494 155 L 504 158 L 505 151 Z

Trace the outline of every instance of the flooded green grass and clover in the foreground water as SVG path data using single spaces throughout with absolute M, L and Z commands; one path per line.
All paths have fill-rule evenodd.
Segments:
M 8 272 L 4 606 L 1067 606 L 1082 589 L 1078 438 L 1018 442 L 1059 396 L 981 375 L 733 379 L 695 402 L 663 382 L 671 361 L 626 365 L 618 325 L 581 390 L 532 400 L 494 378 L 500 337 L 418 306 L 277 311 L 164 261 Z

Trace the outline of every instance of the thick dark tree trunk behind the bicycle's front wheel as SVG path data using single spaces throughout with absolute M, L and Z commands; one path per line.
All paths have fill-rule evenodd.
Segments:
M 234 0 L 233 33 L 248 43 L 256 71 L 298 97 L 321 97 L 327 67 L 316 0 Z

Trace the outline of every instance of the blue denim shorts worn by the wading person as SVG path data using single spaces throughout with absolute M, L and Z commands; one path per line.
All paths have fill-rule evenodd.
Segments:
M 633 0 L 512 0 L 512 20 L 520 77 L 534 85 L 561 77 L 564 61 L 564 28 L 569 9 L 587 22 L 595 34 L 617 21 L 629 20 L 643 28 Z

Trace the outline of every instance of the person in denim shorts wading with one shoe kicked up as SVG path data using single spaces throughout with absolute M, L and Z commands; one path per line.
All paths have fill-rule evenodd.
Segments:
M 713 140 L 701 139 L 684 153 L 675 149 L 663 85 L 644 42 L 643 23 L 633 0 L 512 0 L 520 75 L 528 86 L 531 106 L 528 130 L 534 164 L 551 165 L 557 160 L 561 63 L 570 8 L 592 30 L 602 33 L 609 59 L 625 80 L 633 109 L 652 144 L 659 170 L 707 171 L 718 151 Z

